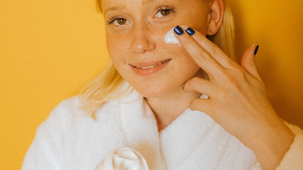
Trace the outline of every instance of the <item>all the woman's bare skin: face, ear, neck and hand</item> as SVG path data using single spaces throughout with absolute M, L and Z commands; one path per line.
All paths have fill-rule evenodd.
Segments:
M 174 10 L 158 17 L 157 8 L 167 5 Z M 123 25 L 106 25 L 108 52 L 122 77 L 146 97 L 159 130 L 189 106 L 207 113 L 252 149 L 263 169 L 279 165 L 294 134 L 268 100 L 254 64 L 256 46 L 245 51 L 238 65 L 205 37 L 214 35 L 221 26 L 222 0 L 103 0 L 102 11 L 105 21 L 115 16 L 127 20 Z M 176 25 L 196 32 L 192 36 L 185 30 L 180 36 L 175 34 L 182 47 L 163 41 Z M 163 69 L 149 76 L 140 76 L 131 67 L 167 59 L 171 60 Z M 208 73 L 209 81 L 202 79 L 202 70 Z M 199 99 L 201 93 L 209 99 Z

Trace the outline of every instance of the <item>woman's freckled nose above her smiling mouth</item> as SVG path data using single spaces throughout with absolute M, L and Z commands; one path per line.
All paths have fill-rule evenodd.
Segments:
M 132 33 L 132 49 L 135 53 L 144 53 L 155 49 L 155 42 L 152 40 L 151 29 L 148 25 L 135 25 Z

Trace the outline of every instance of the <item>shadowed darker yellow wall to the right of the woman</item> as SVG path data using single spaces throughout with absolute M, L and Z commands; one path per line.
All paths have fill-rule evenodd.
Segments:
M 256 65 L 278 115 L 303 127 L 303 1 L 232 0 L 238 51 L 259 44 Z

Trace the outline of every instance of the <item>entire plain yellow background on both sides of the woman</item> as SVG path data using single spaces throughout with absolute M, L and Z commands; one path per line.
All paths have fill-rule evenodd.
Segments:
M 233 0 L 239 54 L 256 63 L 271 102 L 303 127 L 303 1 Z M 94 0 L 0 1 L 0 169 L 20 169 L 38 125 L 104 68 Z

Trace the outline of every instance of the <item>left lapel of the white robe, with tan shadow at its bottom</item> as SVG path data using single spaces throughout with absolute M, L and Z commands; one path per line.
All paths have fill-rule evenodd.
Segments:
M 119 102 L 127 147 L 142 154 L 150 170 L 166 169 L 160 153 L 156 119 L 144 98 L 134 90 Z

